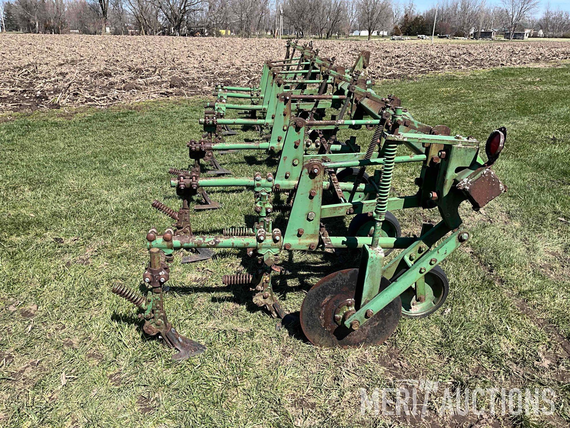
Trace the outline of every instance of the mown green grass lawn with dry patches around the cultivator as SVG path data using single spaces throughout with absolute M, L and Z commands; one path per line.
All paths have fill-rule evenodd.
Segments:
M 36 113 L 0 124 L 2 426 L 405 426 L 404 417 L 360 414 L 360 387 L 371 393 L 394 378 L 470 389 L 552 387 L 556 414 L 548 420 L 567 424 L 570 364 L 555 329 L 570 335 L 570 67 L 426 76 L 375 89 L 455 134 L 484 140 L 507 126 L 494 169 L 508 193 L 480 213 L 463 210 L 473 238 L 442 265 L 451 282 L 443 307 L 422 320 L 402 318 L 386 344 L 368 349 L 319 349 L 298 326 L 277 330 L 247 290 L 221 284 L 222 274 L 243 269 L 237 251 L 172 265 L 169 318 L 207 345 L 182 364 L 144 337 L 132 306 L 109 292 L 117 282 L 139 285 L 145 233 L 169 225 L 149 201 L 178 206 L 166 170 L 188 164 L 185 142 L 200 133 L 203 100 L 71 118 Z M 249 156 L 221 162 L 245 176 L 272 168 L 265 154 Z M 396 193 L 413 191 L 413 168 L 398 165 Z M 195 213 L 196 233 L 246 224 L 249 192 L 213 197 L 225 208 Z M 396 215 L 405 233 L 438 217 Z M 285 265 L 291 273 L 276 291 L 288 311 L 340 268 L 332 255 L 300 252 Z M 515 305 L 521 300 L 529 314 Z M 25 317 L 34 304 L 35 315 Z M 536 366 L 541 356 L 552 360 L 547 368 Z M 498 419 L 504 426 L 547 421 Z

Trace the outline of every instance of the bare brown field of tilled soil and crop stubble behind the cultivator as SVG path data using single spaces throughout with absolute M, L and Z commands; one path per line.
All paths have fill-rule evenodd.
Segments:
M 344 66 L 370 50 L 369 73 L 376 79 L 570 58 L 565 42 L 314 44 Z M 209 93 L 216 82 L 250 85 L 257 83 L 264 59 L 283 58 L 284 52 L 284 41 L 266 38 L 3 34 L 0 112 L 187 97 Z

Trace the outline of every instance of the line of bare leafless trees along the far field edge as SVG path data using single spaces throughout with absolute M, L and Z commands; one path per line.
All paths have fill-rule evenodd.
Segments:
M 2 30 L 28 33 L 210 35 L 334 38 L 355 30 L 378 35 L 543 30 L 570 37 L 570 14 L 539 0 L 443 0 L 420 11 L 397 0 L 3 0 Z M 436 10 L 437 9 L 437 10 Z M 437 12 L 437 19 L 436 19 Z M 435 29 L 434 29 L 435 21 Z M 280 23 L 283 22 L 282 25 Z M 377 32 L 377 33 L 374 33 Z

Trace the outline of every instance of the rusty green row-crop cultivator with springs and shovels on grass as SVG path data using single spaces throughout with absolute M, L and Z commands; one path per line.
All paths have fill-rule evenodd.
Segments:
M 291 48 L 294 53 L 290 55 Z M 295 52 L 300 55 L 295 57 Z M 319 346 L 381 344 L 402 315 L 424 317 L 445 301 L 449 282 L 439 264 L 470 239 L 459 205 L 468 200 L 478 210 L 506 191 L 491 169 L 504 146 L 505 128 L 491 132 L 484 146 L 487 161 L 483 161 L 477 139 L 451 136 L 445 126 L 417 122 L 394 96 L 374 94 L 365 76 L 367 53 L 349 69 L 332 66 L 332 60 L 320 58 L 311 47 L 289 43 L 287 53 L 284 60 L 265 63 L 259 87 L 220 86 L 218 99 L 211 104 L 213 112 L 201 119 L 203 138 L 189 143 L 190 158 L 196 161 L 212 150 L 272 148 L 280 156 L 276 171 L 253 177 L 207 178 L 200 177 L 197 162 L 189 170 L 177 171 L 171 185 L 182 199 L 181 208 L 176 211 L 153 203 L 176 223 L 163 233 L 150 229 L 146 235 L 150 263 L 143 275 L 145 296 L 120 286 L 113 289 L 139 307 L 146 333 L 160 334 L 178 350 L 175 360 L 205 349 L 178 334 L 164 310 L 168 263 L 178 250 L 189 252 L 186 261 L 194 261 L 211 256 L 205 249 L 246 248 L 258 258 L 259 269 L 225 276 L 223 281 L 249 286 L 258 306 L 283 317 L 271 285 L 272 276 L 283 274 L 279 266 L 282 252 L 360 249 L 360 261 L 351 269 L 333 272 L 309 290 L 300 310 L 300 324 L 308 340 Z M 282 71 L 273 70 L 276 64 Z M 291 71 L 293 67 L 295 71 Z M 307 78 L 298 79 L 299 75 Z M 318 85 L 317 95 L 307 98 L 314 96 L 310 93 L 312 83 Z M 237 95 L 251 99 L 249 107 L 256 108 L 250 111 L 261 112 L 263 118 L 252 114 L 248 119 L 225 119 L 229 104 L 224 100 Z M 335 103 L 339 110 L 327 119 L 325 108 L 335 107 Z M 257 146 L 224 143 L 226 125 L 259 125 L 270 134 L 270 140 L 267 145 L 253 143 Z M 361 127 L 369 134 L 366 151 L 360 150 L 355 137 L 345 143 L 337 141 L 339 130 Z M 406 147 L 410 154 L 397 156 L 398 146 Z M 418 163 L 418 191 L 389 197 L 394 167 L 408 162 Z M 374 170 L 373 175 L 365 173 L 367 167 Z M 200 189 L 220 186 L 252 189 L 258 221 L 251 228 L 230 228 L 224 235 L 195 236 L 190 225 L 190 199 Z M 323 203 L 327 191 L 337 197 L 337 203 Z M 282 192 L 287 195 L 280 207 L 287 216 L 284 230 L 272 227 L 274 193 L 279 197 Z M 416 207 L 437 209 L 442 219 L 422 225 L 418 237 L 401 237 L 393 212 Z M 341 236 L 321 223 L 328 217 L 349 215 L 355 216 L 348 233 Z M 392 250 L 399 251 L 398 255 L 385 261 L 386 252 Z

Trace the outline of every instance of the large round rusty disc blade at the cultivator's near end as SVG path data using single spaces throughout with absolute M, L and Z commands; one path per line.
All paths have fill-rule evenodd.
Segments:
M 402 314 L 400 297 L 374 314 L 358 330 L 336 324 L 335 310 L 341 302 L 355 298 L 358 269 L 345 269 L 331 273 L 317 282 L 303 300 L 300 322 L 303 333 L 314 345 L 332 348 L 380 345 L 398 325 Z M 389 285 L 382 278 L 381 289 Z

